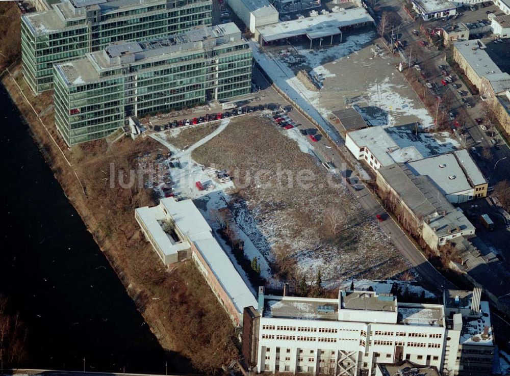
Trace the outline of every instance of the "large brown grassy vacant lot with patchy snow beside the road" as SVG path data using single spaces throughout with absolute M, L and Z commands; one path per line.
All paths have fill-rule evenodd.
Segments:
M 297 133 L 264 117 L 232 119 L 192 153 L 197 163 L 230 171 L 239 189 L 230 205 L 234 219 L 277 277 L 312 282 L 321 271 L 333 286 L 345 278 L 387 278 L 406 269 L 346 187 L 284 132 Z

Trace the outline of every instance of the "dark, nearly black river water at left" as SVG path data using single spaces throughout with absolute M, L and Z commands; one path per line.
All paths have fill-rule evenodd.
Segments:
M 28 327 L 22 366 L 191 372 L 144 323 L 1 86 L 0 108 L 0 293 Z

